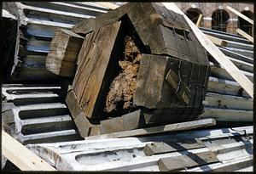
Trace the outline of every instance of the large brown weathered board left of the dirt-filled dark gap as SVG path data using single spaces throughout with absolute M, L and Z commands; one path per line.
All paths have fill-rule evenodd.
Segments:
M 79 52 L 78 69 L 73 80 L 73 91 L 79 105 L 88 118 L 100 117 L 96 100 L 100 99 L 104 79 L 113 50 L 113 44 L 119 31 L 120 22 L 106 25 L 98 31 L 86 35 Z M 102 103 L 102 101 L 101 101 Z

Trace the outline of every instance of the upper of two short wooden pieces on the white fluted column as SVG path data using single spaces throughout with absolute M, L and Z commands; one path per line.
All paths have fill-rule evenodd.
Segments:
M 160 143 L 148 143 L 143 149 L 143 152 L 147 156 L 153 154 L 165 154 L 171 152 L 177 152 L 188 149 L 199 149 L 205 148 L 206 145 L 201 142 L 201 140 L 196 139 L 185 139 L 185 140 L 171 140 Z

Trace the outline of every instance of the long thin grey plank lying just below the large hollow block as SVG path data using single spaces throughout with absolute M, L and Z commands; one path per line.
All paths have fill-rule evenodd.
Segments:
M 113 132 L 105 135 L 92 136 L 84 139 L 87 140 L 87 139 L 100 139 L 100 138 L 128 138 L 128 137 L 150 135 L 150 134 L 161 133 L 161 132 L 176 132 L 176 131 L 191 130 L 197 127 L 214 126 L 215 124 L 216 122 L 213 119 L 187 121 L 182 123 L 170 124 L 166 126 L 152 126 L 148 128 L 136 129 L 136 130 L 125 131 L 125 132 Z

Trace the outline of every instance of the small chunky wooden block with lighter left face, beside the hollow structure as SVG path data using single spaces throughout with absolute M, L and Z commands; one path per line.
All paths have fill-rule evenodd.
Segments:
M 84 37 L 73 31 L 56 29 L 45 60 L 47 70 L 55 75 L 73 77 L 83 40 Z

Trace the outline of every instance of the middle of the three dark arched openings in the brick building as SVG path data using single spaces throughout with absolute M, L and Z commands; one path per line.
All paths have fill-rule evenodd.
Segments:
M 224 9 L 217 9 L 212 13 L 212 29 L 217 31 L 227 31 L 230 14 Z

